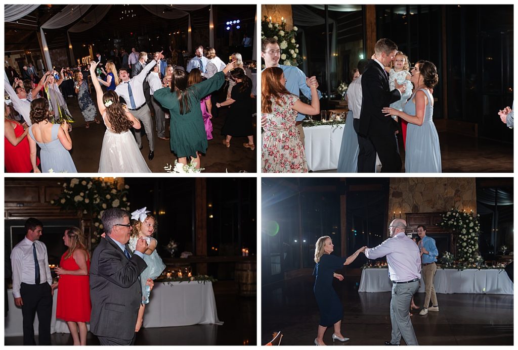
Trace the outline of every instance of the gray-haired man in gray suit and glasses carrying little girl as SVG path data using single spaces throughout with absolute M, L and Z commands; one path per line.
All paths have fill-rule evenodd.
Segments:
M 135 325 L 142 300 L 140 273 L 148 266 L 142 256 L 148 248 L 145 239 L 137 241 L 134 254 L 130 240 L 130 213 L 118 208 L 105 210 L 106 237 L 95 248 L 90 265 L 92 315 L 90 331 L 101 345 L 133 345 Z

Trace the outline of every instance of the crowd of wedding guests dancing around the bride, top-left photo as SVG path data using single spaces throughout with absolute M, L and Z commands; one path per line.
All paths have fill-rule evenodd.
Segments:
M 211 119 L 222 108 L 228 108 L 223 144 L 229 147 L 232 137 L 246 137 L 243 146 L 254 150 L 255 96 L 251 70 L 241 54 L 232 54 L 232 62 L 224 64 L 214 48 L 199 46 L 185 69 L 182 54 L 170 51 L 167 59 L 163 52 L 155 52 L 149 62 L 148 53 L 135 48 L 131 54 L 121 49 L 120 56 L 108 60 L 97 53 L 88 66 L 63 67 L 41 78 L 32 65 L 24 67 L 22 79 L 16 69 L 6 68 L 4 86 L 11 101 L 4 109 L 6 172 L 77 172 L 69 153 L 75 119 L 66 102 L 70 95 L 60 89 L 68 79 L 74 79 L 70 93 L 77 96 L 85 128 L 101 119 L 106 126 L 99 172 L 151 172 L 140 153 L 142 129 L 150 161 L 158 138 L 169 141 L 179 163 L 191 162 L 199 169 L 199 154 L 207 152 L 207 140 L 213 138 Z M 225 98 L 220 98 L 225 89 Z

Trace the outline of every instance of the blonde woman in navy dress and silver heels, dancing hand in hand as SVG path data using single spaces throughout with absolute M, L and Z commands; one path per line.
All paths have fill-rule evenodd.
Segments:
M 359 253 L 365 252 L 367 247 L 358 249 L 348 258 L 332 255 L 334 250 L 333 241 L 329 236 L 320 237 L 315 244 L 315 269 L 313 275 L 315 285 L 313 292 L 316 303 L 320 310 L 320 323 L 315 345 L 325 345 L 324 333 L 327 327 L 334 326 L 333 342 L 338 339 L 341 342 L 349 340 L 342 336 L 341 323 L 343 317 L 343 307 L 338 295 L 333 289 L 333 277 L 343 280 L 343 276 L 335 273 L 335 270 L 343 268 L 343 265 L 351 264 Z

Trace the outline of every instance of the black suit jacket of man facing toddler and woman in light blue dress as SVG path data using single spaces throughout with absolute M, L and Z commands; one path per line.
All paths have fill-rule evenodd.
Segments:
M 375 60 L 370 61 L 362 74 L 362 94 L 358 132 L 364 136 L 394 134 L 397 122 L 381 110 L 399 100 L 401 94 L 398 89 L 390 91 L 389 80 Z

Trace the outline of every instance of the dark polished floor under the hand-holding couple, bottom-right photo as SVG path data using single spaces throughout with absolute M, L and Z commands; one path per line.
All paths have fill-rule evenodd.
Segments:
M 282 345 L 313 345 L 319 311 L 313 295 L 314 278 L 299 277 L 261 288 L 261 343 L 274 331 Z M 342 334 L 349 341 L 334 345 L 383 345 L 391 338 L 391 293 L 358 293 L 358 277 L 334 282 L 342 300 Z M 513 345 L 513 296 L 490 294 L 438 294 L 439 312 L 411 317 L 420 345 Z M 424 293 L 414 297 L 423 303 Z M 324 342 L 333 345 L 332 329 Z M 401 344 L 404 344 L 401 341 Z

